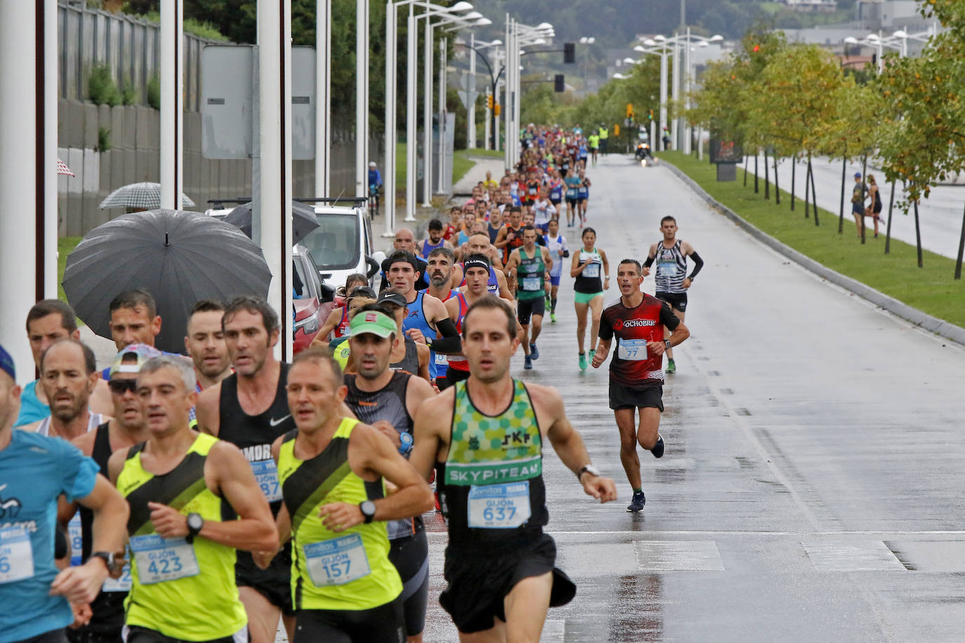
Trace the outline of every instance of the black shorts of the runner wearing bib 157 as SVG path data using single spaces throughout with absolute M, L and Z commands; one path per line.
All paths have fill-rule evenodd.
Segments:
M 372 609 L 300 609 L 291 643 L 403 643 L 402 597 Z

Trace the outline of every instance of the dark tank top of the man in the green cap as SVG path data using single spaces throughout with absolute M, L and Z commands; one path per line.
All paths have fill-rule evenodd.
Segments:
M 359 390 L 356 386 L 358 376 L 354 373 L 345 375 L 345 404 L 359 418 L 359 421 L 372 424 L 380 419 L 396 427 L 400 434 L 412 435 L 412 415 L 405 406 L 405 391 L 409 387 L 409 373 L 395 372 L 389 383 L 379 390 Z M 423 530 L 422 516 L 406 518 L 399 521 L 386 522 L 389 530 L 389 540 L 413 536 Z

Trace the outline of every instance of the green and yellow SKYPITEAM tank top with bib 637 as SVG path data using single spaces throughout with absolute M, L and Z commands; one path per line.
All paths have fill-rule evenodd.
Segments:
M 526 386 L 513 380 L 507 409 L 485 415 L 458 382 L 454 406 L 449 452 L 436 463 L 449 547 L 501 549 L 541 531 L 549 520 L 542 436 Z

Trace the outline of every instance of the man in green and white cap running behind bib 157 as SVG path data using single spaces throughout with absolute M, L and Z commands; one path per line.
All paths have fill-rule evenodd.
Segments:
M 360 329 L 349 340 L 357 375 L 345 375 L 345 404 L 360 421 L 381 431 L 407 458 L 412 451 L 412 418 L 422 403 L 435 395 L 435 390 L 418 377 L 389 369 L 389 354 L 399 335 L 395 321 L 388 315 L 377 311 L 356 315 L 353 326 Z M 387 526 L 392 546 L 389 560 L 402 580 L 405 633 L 409 643 L 419 643 L 426 627 L 428 600 L 426 527 L 422 516 L 389 522 Z

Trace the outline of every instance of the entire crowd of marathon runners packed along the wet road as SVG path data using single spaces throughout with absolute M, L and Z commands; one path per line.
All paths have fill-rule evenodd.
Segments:
M 524 159 L 541 148 L 535 138 Z M 154 347 L 151 294 L 121 293 L 109 307 L 118 354 L 103 370 L 69 306 L 32 308 L 40 378 L 17 386 L 0 347 L 0 641 L 271 643 L 280 624 L 296 643 L 420 641 L 433 477 L 450 539 L 440 603 L 460 637 L 538 640 L 548 607 L 575 592 L 542 530 L 542 445 L 587 495 L 617 490 L 560 393 L 510 376 L 520 343 L 524 368 L 538 359 L 569 253 L 558 219 L 538 228 L 537 208 L 490 202 L 492 187 L 472 217 L 460 208 L 462 221 L 433 223 L 420 244 L 401 229 L 386 287 L 350 277 L 344 306 L 290 363 L 276 359 L 278 318 L 257 298 L 199 302 L 185 359 Z M 610 262 L 593 228 L 570 262 L 580 367 L 614 351 L 610 405 L 634 512 L 645 502 L 636 444 L 663 455 L 663 354 L 689 335 L 686 289 L 703 265 L 672 218 L 661 230 L 643 265 L 620 261 L 620 300 L 606 308 Z M 653 262 L 673 308 L 640 289 Z

